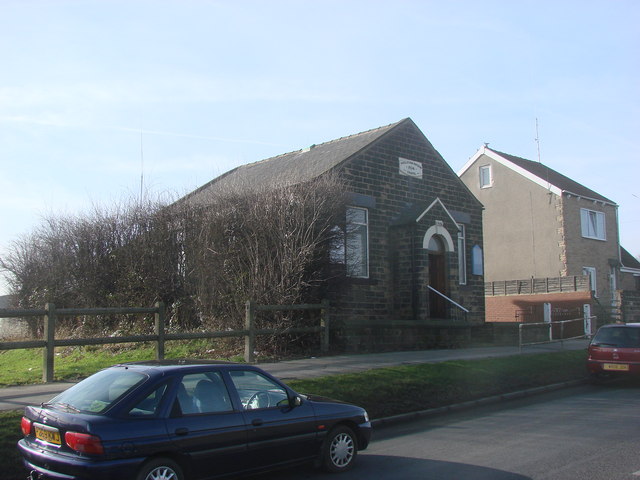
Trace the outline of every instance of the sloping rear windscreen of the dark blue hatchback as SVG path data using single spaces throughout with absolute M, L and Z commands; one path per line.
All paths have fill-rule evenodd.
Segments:
M 125 368 L 102 370 L 45 405 L 73 412 L 102 413 L 146 378 L 145 374 Z

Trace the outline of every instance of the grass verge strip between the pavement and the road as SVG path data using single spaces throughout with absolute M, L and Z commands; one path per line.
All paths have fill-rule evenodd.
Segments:
M 120 361 L 114 356 L 104 360 L 109 360 L 107 365 Z M 130 353 L 127 360 L 132 360 Z M 101 361 L 92 359 L 92 368 Z M 585 361 L 586 352 L 578 350 L 405 365 L 288 383 L 301 393 L 355 403 L 365 407 L 371 418 L 382 418 L 584 378 Z M 76 363 L 82 364 L 82 359 Z M 76 368 L 80 371 L 84 366 Z M 0 464 L 5 480 L 26 476 L 15 447 L 21 437 L 21 415 L 20 411 L 0 412 Z

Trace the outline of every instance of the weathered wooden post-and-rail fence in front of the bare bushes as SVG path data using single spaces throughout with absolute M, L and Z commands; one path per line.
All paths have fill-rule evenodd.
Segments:
M 258 329 L 256 313 L 258 311 L 291 311 L 291 310 L 320 310 L 320 325 L 315 327 L 299 327 L 282 329 Z M 56 339 L 56 322 L 59 317 L 70 316 L 98 316 L 98 315 L 153 315 L 154 332 L 149 335 L 123 335 L 110 337 L 91 338 L 66 338 Z M 170 340 L 193 340 L 202 338 L 244 337 L 244 359 L 246 362 L 255 360 L 255 343 L 258 335 L 278 335 L 289 333 L 320 333 L 321 349 L 323 353 L 329 350 L 329 303 L 323 301 L 320 304 L 306 305 L 257 305 L 248 301 L 245 312 L 244 330 L 231 330 L 223 332 L 185 332 L 167 333 L 166 331 L 166 307 L 158 302 L 150 308 L 56 308 L 53 303 L 48 303 L 43 310 L 0 309 L 0 318 L 44 318 L 44 335 L 42 340 L 26 340 L 0 342 L 0 351 L 44 348 L 42 358 L 42 381 L 52 382 L 54 378 L 54 359 L 56 347 L 107 345 L 115 343 L 153 342 L 156 346 L 156 359 L 164 359 L 165 342 Z

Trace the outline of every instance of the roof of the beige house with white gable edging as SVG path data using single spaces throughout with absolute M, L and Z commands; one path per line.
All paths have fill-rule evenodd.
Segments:
M 508 153 L 500 152 L 486 145 L 481 147 L 476 154 L 471 157 L 469 162 L 458 172 L 458 175 L 464 173 L 472 163 L 474 163 L 481 155 L 487 155 L 488 157 L 500 162 L 501 164 L 511 168 L 525 175 L 530 180 L 535 181 L 539 185 L 545 188 L 555 187 L 557 191 L 555 193 L 571 194 L 578 197 L 585 197 L 591 200 L 609 203 L 616 205 L 613 200 L 608 199 L 604 195 L 600 195 L 598 192 L 585 187 L 584 185 L 572 180 L 571 178 L 557 172 L 556 170 L 544 165 L 540 162 L 534 162 L 527 160 L 526 158 L 517 157 Z

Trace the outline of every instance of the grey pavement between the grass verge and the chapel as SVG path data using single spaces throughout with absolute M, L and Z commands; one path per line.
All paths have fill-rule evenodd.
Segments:
M 257 365 L 285 382 L 287 380 L 322 377 L 341 373 L 354 373 L 374 368 L 396 365 L 438 363 L 449 360 L 474 360 L 480 358 L 506 357 L 562 350 L 586 349 L 586 339 L 519 347 L 473 347 L 447 350 L 419 350 L 408 352 L 385 352 L 330 357 L 309 357 Z M 38 405 L 50 400 L 73 385 L 73 382 L 53 382 L 35 385 L 0 387 L 0 410 L 16 410 L 27 405 Z

